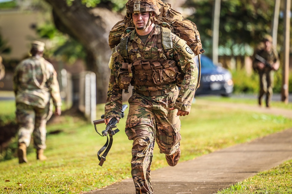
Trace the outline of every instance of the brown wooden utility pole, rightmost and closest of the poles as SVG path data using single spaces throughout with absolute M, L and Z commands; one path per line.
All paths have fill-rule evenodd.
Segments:
M 288 104 L 289 96 L 289 54 L 290 54 L 290 13 L 291 0 L 286 0 L 284 11 L 284 63 L 283 63 L 283 84 L 281 90 L 282 102 Z

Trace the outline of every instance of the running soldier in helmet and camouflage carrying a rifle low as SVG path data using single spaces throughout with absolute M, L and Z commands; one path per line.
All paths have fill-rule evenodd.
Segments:
M 153 193 L 150 167 L 155 141 L 168 165 L 180 159 L 180 119 L 190 113 L 197 86 L 194 53 L 168 28 L 153 23 L 155 0 L 129 0 L 135 29 L 112 49 L 105 123 L 121 118 L 122 90 L 133 86 L 125 132 L 133 140 L 131 174 L 136 193 Z M 180 90 L 178 89 L 178 86 Z

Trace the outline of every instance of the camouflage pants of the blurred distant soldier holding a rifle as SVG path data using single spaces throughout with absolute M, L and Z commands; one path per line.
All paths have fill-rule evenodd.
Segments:
M 259 103 L 263 95 L 266 94 L 266 106 L 270 105 L 272 95 L 273 95 L 273 82 L 274 82 L 274 72 L 259 72 L 260 75 L 260 93 L 259 93 Z

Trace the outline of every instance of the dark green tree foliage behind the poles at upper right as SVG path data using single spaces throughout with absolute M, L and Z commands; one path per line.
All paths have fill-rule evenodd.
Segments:
M 187 1 L 186 6 L 196 8 L 189 18 L 201 35 L 206 54 L 212 51 L 213 0 Z M 274 0 L 222 0 L 219 26 L 219 45 L 232 49 L 232 45 L 246 43 L 255 47 L 264 34 L 271 33 Z M 279 19 L 279 33 L 283 33 L 282 19 Z M 279 37 L 280 38 L 280 37 Z M 279 39 L 279 45 L 283 40 Z M 232 42 L 232 45 L 226 45 Z

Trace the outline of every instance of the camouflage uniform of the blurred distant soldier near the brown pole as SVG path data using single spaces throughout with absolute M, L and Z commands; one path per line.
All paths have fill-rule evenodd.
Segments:
M 276 63 L 279 60 L 277 51 L 272 48 L 271 51 L 266 51 L 265 49 L 257 49 L 253 54 L 253 66 L 256 66 L 256 63 L 259 61 L 255 58 L 255 55 L 263 57 L 267 63 L 271 65 Z M 266 106 L 270 106 L 270 102 L 273 95 L 273 83 L 274 83 L 274 71 L 271 67 L 265 66 L 264 69 L 257 69 L 260 77 L 260 91 L 258 96 L 258 103 L 261 105 L 261 99 L 266 94 Z

